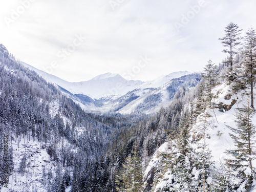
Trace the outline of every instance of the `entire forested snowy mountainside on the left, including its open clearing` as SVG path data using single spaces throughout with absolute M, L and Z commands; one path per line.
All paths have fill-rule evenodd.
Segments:
M 116 137 L 121 127 L 130 126 L 131 120 L 88 114 L 66 95 L 20 65 L 0 45 L 1 192 L 71 191 L 75 167 L 86 179 L 80 188 L 106 188 L 108 184 L 91 176 L 98 169 L 109 177 L 103 165 L 106 150 L 113 143 L 112 136 Z M 100 166 L 98 158 L 103 159 Z

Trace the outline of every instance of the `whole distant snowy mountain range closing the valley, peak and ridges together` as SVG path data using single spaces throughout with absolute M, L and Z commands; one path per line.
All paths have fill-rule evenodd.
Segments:
M 68 82 L 27 63 L 22 64 L 56 84 L 62 92 L 82 104 L 83 109 L 97 113 L 154 114 L 167 106 L 181 87 L 195 87 L 201 79 L 199 73 L 179 71 L 146 82 L 126 80 L 112 73 L 88 81 Z

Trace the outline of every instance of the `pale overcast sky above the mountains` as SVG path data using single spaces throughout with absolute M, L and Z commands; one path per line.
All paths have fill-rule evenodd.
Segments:
M 1 0 L 0 44 L 68 81 L 111 72 L 151 80 L 226 57 L 230 22 L 256 27 L 255 0 Z

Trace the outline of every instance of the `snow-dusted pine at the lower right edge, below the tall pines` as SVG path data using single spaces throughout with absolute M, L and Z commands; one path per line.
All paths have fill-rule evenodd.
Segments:
M 236 190 L 243 186 L 247 190 L 251 189 L 252 182 L 255 179 L 254 167 L 252 167 L 252 161 L 256 159 L 254 140 L 256 126 L 252 123 L 255 110 L 250 107 L 249 103 L 248 99 L 247 106 L 243 105 L 243 108 L 237 109 L 237 119 L 235 120 L 237 127 L 227 126 L 233 132 L 230 136 L 236 146 L 235 149 L 226 152 L 232 156 L 232 158 L 226 160 L 227 166 L 234 173 L 237 173 L 236 175 L 231 173 L 231 179 L 229 180 L 229 184 Z

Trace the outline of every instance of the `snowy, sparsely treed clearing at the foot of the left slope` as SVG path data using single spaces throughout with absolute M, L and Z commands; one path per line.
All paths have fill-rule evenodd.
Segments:
M 22 138 L 18 143 L 13 141 L 13 162 L 14 170 L 18 170 L 20 161 L 23 155 L 26 154 L 28 167 L 25 169 L 25 173 L 22 176 L 21 173 L 15 172 L 9 177 L 8 188 L 3 187 L 1 192 L 7 191 L 47 191 L 42 183 L 42 169 L 46 168 L 48 173 L 49 169 L 54 170 L 55 166 L 47 154 L 46 149 L 42 149 L 37 139 L 33 142 L 30 138 L 30 142 L 27 143 L 27 139 L 24 143 Z M 10 190 L 11 189 L 11 190 Z

